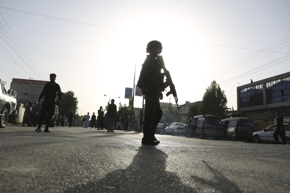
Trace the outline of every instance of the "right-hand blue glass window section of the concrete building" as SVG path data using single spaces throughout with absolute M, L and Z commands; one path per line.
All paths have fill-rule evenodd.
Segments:
M 266 82 L 267 104 L 290 100 L 290 77 Z

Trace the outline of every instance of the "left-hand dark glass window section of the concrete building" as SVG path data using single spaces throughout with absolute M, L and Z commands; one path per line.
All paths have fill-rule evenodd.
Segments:
M 240 89 L 240 108 L 263 105 L 263 84 Z

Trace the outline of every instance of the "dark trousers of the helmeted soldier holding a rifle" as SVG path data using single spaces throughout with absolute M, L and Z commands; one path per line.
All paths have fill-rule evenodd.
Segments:
M 155 135 L 156 125 L 162 117 L 159 98 L 156 92 L 150 92 L 145 95 L 145 110 L 144 110 L 144 139 L 150 139 Z

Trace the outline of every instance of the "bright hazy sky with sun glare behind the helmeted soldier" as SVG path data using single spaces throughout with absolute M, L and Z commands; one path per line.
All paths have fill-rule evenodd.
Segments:
M 108 96 L 121 97 L 114 98 L 117 106 L 129 104 L 125 87 L 133 87 L 135 65 L 137 83 L 151 40 L 163 45 L 180 105 L 202 100 L 205 88 L 216 80 L 227 106 L 236 110 L 239 84 L 290 71 L 289 0 L 1 0 L 0 6 L 33 62 L 28 65 L 40 71 L 37 76 L 29 70 L 2 39 L 6 29 L 20 47 L 0 15 L 0 78 L 7 81 L 6 88 L 12 78 L 49 81 L 55 73 L 62 91 L 72 90 L 78 97 L 79 114 L 106 106 Z M 134 106 L 142 107 L 142 97 L 135 97 Z

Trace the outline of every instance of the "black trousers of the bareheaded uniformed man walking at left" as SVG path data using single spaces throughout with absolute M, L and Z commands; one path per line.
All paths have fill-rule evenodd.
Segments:
M 54 109 L 55 109 L 55 101 L 54 100 L 48 100 L 48 101 L 44 101 L 42 103 L 42 106 L 40 109 L 40 117 L 39 117 L 39 121 L 38 121 L 38 128 L 41 128 L 43 120 L 46 117 L 45 129 L 48 129 L 50 122 L 51 122 L 51 118 L 54 115 Z

